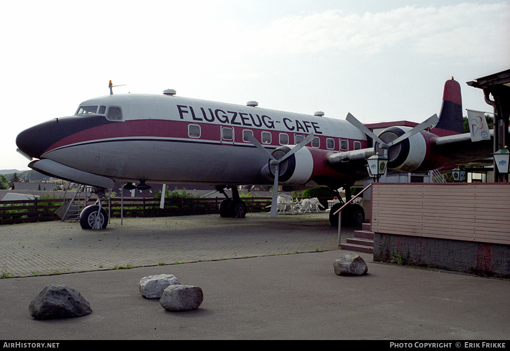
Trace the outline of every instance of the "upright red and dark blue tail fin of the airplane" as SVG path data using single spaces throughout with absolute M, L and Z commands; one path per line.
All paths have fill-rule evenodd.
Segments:
M 461 85 L 453 77 L 445 83 L 439 122 L 430 132 L 439 136 L 464 133 Z

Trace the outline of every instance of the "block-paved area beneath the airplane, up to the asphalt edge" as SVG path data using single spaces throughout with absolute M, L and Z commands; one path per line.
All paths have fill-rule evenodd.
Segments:
M 8 277 L 338 249 L 324 212 L 112 219 L 103 231 L 68 222 L 0 225 L 0 238 L 0 271 Z

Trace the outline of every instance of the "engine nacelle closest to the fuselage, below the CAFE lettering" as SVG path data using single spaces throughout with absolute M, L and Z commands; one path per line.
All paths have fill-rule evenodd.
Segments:
M 281 159 L 285 154 L 291 151 L 294 145 L 280 146 L 271 153 L 274 158 Z M 296 153 L 291 155 L 285 161 L 279 164 L 278 180 L 279 183 L 285 185 L 304 185 L 313 180 L 318 184 L 322 184 L 319 179 L 323 177 L 342 177 L 343 174 L 331 168 L 327 163 L 327 157 L 332 152 L 321 149 L 304 146 Z M 274 165 L 270 162 L 267 164 L 267 173 L 270 178 L 274 179 Z

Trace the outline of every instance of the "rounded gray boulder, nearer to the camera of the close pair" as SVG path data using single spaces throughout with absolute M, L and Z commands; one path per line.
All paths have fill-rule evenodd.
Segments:
M 202 289 L 192 285 L 170 285 L 163 291 L 160 304 L 167 311 L 190 311 L 203 301 Z

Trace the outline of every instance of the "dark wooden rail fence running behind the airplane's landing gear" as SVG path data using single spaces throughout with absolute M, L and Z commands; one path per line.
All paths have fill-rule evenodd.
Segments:
M 67 199 L 66 201 L 68 201 Z M 217 214 L 223 197 L 215 198 L 167 198 L 165 208 L 160 209 L 160 200 L 156 198 L 124 198 L 124 217 L 165 217 L 198 214 Z M 248 212 L 269 211 L 270 197 L 243 197 Z M 328 198 L 320 198 L 327 208 Z M 94 202 L 89 202 L 92 205 Z M 0 202 L 0 224 L 60 220 L 55 214 L 64 199 L 12 200 Z M 103 202 L 108 211 L 108 202 Z M 112 198 L 111 217 L 120 217 L 120 197 Z

